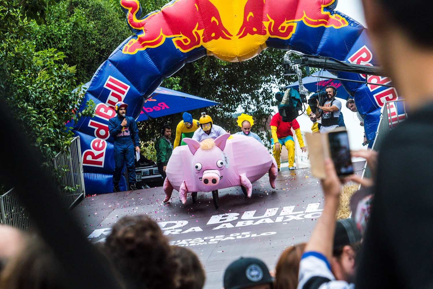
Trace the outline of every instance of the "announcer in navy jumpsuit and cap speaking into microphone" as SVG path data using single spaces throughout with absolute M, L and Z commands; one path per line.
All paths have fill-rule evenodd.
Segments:
M 123 169 L 123 162 L 126 162 L 128 169 L 129 187 L 136 190 L 136 173 L 134 146 L 137 153 L 140 153 L 138 127 L 132 117 L 126 116 L 128 104 L 119 101 L 114 109 L 117 115 L 108 121 L 110 136 L 114 138 L 114 162 L 116 167 L 113 173 L 113 192 L 120 192 L 119 181 Z

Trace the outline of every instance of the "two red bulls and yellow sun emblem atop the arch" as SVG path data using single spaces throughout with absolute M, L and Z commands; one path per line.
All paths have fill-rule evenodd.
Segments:
M 269 37 L 289 39 L 302 22 L 310 27 L 348 25 L 326 11 L 335 0 L 175 0 L 160 11 L 138 19 L 138 0 L 121 0 L 129 26 L 138 31 L 123 53 L 162 45 L 166 38 L 181 52 L 204 46 L 208 55 L 227 61 L 254 57 L 266 48 Z M 137 16 L 138 15 L 138 16 Z

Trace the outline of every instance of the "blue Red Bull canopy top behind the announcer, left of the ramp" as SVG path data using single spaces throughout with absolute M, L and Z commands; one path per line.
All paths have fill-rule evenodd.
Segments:
M 162 117 L 216 104 L 220 103 L 159 86 L 146 99 L 136 121 Z

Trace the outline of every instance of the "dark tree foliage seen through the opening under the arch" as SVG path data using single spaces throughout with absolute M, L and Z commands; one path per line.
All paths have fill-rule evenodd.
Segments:
M 199 119 L 200 112 L 206 111 L 215 124 L 236 133 L 240 128 L 232 114 L 240 111 L 253 116 L 255 125 L 252 130 L 258 132 L 266 129 L 268 117 L 276 105 L 272 89 L 293 81 L 293 78 L 283 78 L 283 56 L 284 51 L 270 48 L 244 62 L 229 63 L 207 56 L 185 65 L 163 81 L 162 86 L 221 103 L 189 111 L 196 119 Z M 139 122 L 140 138 L 158 137 L 165 123 L 171 125 L 174 135 L 181 119 L 181 114 L 174 114 Z

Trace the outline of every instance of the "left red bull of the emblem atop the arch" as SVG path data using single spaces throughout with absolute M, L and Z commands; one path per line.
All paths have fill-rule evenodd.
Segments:
M 135 54 L 139 50 L 157 47 L 165 42 L 166 37 L 174 37 L 172 41 L 176 48 L 188 52 L 210 40 L 230 39 L 232 36 L 209 0 L 176 0 L 145 19 L 136 18 L 140 5 L 138 0 L 122 0 L 120 4 L 128 10 L 129 25 L 143 31 L 137 39 L 131 39 L 124 46 L 123 53 Z M 147 30 L 146 26 L 151 22 L 153 27 Z

